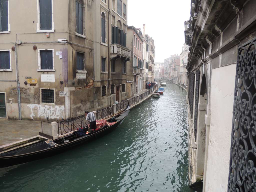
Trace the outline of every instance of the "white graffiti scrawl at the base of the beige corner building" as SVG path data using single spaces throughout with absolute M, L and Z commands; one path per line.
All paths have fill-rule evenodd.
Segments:
M 52 106 L 48 105 L 38 105 L 38 104 L 28 104 L 27 105 L 30 110 L 31 114 L 30 117 L 31 119 L 34 119 L 33 117 L 39 117 L 39 118 L 49 118 L 49 119 L 59 119 L 63 118 L 65 116 L 65 108 L 64 106 L 58 106 L 56 105 L 54 108 Z

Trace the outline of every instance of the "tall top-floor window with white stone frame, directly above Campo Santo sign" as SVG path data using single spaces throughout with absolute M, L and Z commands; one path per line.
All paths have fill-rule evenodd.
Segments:
M 38 23 L 37 32 L 54 32 L 53 22 L 53 1 L 37 0 L 38 3 Z

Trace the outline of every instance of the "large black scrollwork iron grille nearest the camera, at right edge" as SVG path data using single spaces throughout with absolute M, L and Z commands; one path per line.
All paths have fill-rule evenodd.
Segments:
M 255 41 L 238 48 L 228 192 L 256 191 Z

